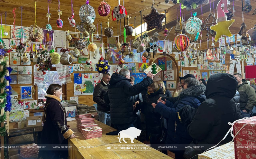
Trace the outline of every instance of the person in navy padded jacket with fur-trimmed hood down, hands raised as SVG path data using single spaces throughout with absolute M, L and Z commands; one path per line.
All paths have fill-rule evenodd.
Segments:
M 193 139 L 187 131 L 187 125 L 180 123 L 177 112 L 186 105 L 198 108 L 206 100 L 204 91 L 205 86 L 200 84 L 195 78 L 186 78 L 184 81 L 184 90 L 179 95 L 179 100 L 174 104 L 168 100 L 153 103 L 154 111 L 168 118 L 168 131 L 165 144 L 186 144 L 188 145 Z M 181 147 L 179 147 L 180 149 Z M 185 150 L 173 151 L 176 159 L 183 159 Z

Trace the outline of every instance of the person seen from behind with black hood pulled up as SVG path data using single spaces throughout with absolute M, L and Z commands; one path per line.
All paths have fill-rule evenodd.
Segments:
M 228 122 L 233 123 L 242 118 L 240 109 L 233 99 L 236 88 L 236 78 L 230 74 L 219 73 L 209 77 L 205 90 L 207 100 L 198 107 L 188 126 L 188 132 L 194 139 L 193 143 L 196 146 L 203 144 L 203 151 L 215 146 L 225 137 L 231 127 Z M 220 144 L 231 140 L 229 134 Z

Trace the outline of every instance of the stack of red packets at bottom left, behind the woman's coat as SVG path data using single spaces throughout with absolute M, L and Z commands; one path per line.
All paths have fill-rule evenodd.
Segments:
M 30 158 L 38 156 L 38 145 L 35 143 L 27 144 L 24 146 L 20 146 L 20 157 L 22 158 Z

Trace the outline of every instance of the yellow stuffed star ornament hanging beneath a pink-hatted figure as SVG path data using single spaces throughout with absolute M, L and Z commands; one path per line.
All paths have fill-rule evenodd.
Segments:
M 226 35 L 226 36 L 232 36 L 229 27 L 233 24 L 233 22 L 235 21 L 235 19 L 230 19 L 227 21 L 220 21 L 218 22 L 216 25 L 211 26 L 211 30 L 216 31 L 216 36 L 214 41 L 216 42 L 222 35 Z

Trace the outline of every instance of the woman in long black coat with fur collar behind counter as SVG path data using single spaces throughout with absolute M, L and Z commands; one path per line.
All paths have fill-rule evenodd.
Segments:
M 68 150 L 53 150 L 53 146 L 67 146 L 67 139 L 76 137 L 69 125 L 67 125 L 66 113 L 61 105 L 60 96 L 62 86 L 58 84 L 49 85 L 47 91 L 46 103 L 44 107 L 44 126 L 41 135 L 40 144 L 46 146 L 40 149 L 39 158 L 43 159 L 66 159 Z

